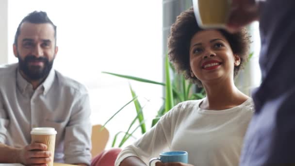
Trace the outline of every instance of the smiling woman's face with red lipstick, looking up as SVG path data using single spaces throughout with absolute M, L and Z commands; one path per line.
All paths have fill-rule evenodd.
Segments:
M 228 40 L 215 30 L 196 33 L 190 44 L 191 75 L 203 84 L 220 79 L 233 79 L 234 66 L 240 57 L 234 55 Z

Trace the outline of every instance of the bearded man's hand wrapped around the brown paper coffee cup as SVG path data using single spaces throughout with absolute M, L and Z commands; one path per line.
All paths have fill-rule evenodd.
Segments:
M 32 143 L 27 145 L 19 151 L 19 161 L 24 165 L 38 165 L 47 166 L 47 163 L 51 161 L 51 152 L 46 151 L 47 146 L 40 143 Z

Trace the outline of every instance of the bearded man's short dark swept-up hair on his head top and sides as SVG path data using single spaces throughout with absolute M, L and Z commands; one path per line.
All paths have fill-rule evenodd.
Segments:
M 49 23 L 54 28 L 54 38 L 55 38 L 55 45 L 56 45 L 56 26 L 53 24 L 53 22 L 49 19 L 46 12 L 42 11 L 34 11 L 30 13 L 28 16 L 24 17 L 21 22 L 18 24 L 16 35 L 15 35 L 15 41 L 14 44 L 17 46 L 17 38 L 20 34 L 20 26 L 24 22 L 29 22 L 33 24 L 42 24 L 42 23 Z

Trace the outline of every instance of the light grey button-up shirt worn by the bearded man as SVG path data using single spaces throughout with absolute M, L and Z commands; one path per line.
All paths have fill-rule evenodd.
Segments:
M 86 88 L 54 69 L 33 90 L 17 64 L 0 67 L 0 143 L 21 148 L 32 128 L 53 127 L 54 162 L 90 164 L 90 113 Z

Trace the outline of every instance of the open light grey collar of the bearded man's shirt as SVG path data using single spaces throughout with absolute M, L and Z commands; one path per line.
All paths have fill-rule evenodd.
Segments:
M 17 67 L 16 71 L 16 83 L 21 91 L 22 94 L 25 94 L 28 89 L 33 89 L 33 85 L 29 83 L 25 78 L 22 77 L 20 74 L 19 68 Z M 45 79 L 45 81 L 37 87 L 37 89 L 42 88 L 43 89 L 43 94 L 46 95 L 46 93 L 49 91 L 51 85 L 53 84 L 55 77 L 55 70 L 51 68 L 49 75 Z

